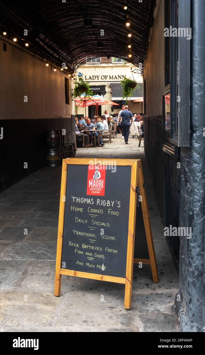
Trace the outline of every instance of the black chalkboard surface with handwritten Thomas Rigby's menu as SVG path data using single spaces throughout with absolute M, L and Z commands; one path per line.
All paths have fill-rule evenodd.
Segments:
M 106 170 L 104 196 L 87 195 L 87 178 L 67 165 L 61 268 L 125 278 L 131 166 Z

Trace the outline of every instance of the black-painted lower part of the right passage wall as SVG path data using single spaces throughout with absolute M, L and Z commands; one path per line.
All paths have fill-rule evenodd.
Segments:
M 177 169 L 177 162 L 179 160 L 162 150 L 162 116 L 145 117 L 144 149 L 162 223 L 164 226 L 178 227 L 180 169 Z M 167 241 L 178 264 L 179 237 L 167 237 Z

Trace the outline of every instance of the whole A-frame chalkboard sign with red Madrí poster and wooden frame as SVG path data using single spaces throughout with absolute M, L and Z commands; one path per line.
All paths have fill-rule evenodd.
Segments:
M 125 285 L 124 308 L 130 309 L 133 262 L 140 261 L 151 265 L 158 282 L 143 183 L 141 160 L 63 159 L 55 296 L 61 275 L 116 282 Z M 149 259 L 134 260 L 137 186 Z

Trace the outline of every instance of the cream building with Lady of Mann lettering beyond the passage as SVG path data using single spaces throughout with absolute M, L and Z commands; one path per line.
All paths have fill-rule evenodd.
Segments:
M 132 71 L 131 71 L 132 70 Z M 134 71 L 134 72 L 133 72 Z M 127 104 L 132 113 L 143 113 L 143 102 L 133 102 L 135 99 L 143 97 L 143 76 L 138 68 L 132 67 L 131 64 L 124 62 L 121 58 L 95 58 L 78 68 L 77 76 L 83 75 L 83 79 L 90 83 L 93 93 L 102 95 L 105 99 L 118 103 L 120 106 L 102 105 L 98 107 L 99 115 L 105 110 L 115 116 L 121 109 L 121 105 L 125 103 L 122 100 L 123 88 L 121 80 L 126 77 L 134 78 L 137 86 L 132 94 L 131 100 Z M 84 114 L 85 110 L 78 108 L 77 115 Z M 87 108 L 87 116 L 93 118 L 95 115 L 95 106 Z

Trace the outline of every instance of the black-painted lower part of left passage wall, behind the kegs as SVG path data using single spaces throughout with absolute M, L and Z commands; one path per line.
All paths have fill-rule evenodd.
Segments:
M 66 141 L 75 141 L 75 119 L 0 120 L 0 192 L 46 165 L 46 130 L 65 129 Z M 24 169 L 24 163 L 28 168 Z

